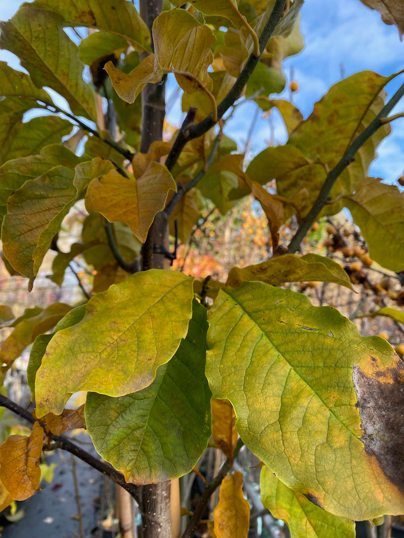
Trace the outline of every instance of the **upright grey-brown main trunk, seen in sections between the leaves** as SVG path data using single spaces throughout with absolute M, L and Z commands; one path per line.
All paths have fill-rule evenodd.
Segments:
M 163 0 L 141 0 L 140 14 L 149 26 L 161 12 Z M 142 90 L 142 139 L 140 151 L 147 153 L 152 142 L 161 140 L 165 116 L 165 79 L 162 84 L 147 84 Z M 164 255 L 154 254 L 153 245 L 163 245 L 167 220 L 158 213 L 143 248 L 143 269 L 164 268 Z M 143 538 L 170 537 L 170 482 L 142 486 L 138 504 L 142 515 Z

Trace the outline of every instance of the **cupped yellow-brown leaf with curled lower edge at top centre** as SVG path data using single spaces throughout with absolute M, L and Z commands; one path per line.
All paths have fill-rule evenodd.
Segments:
M 211 46 L 215 41 L 212 30 L 184 9 L 163 11 L 153 23 L 153 42 L 159 68 L 168 72 L 191 73 L 208 90 L 212 89 L 212 79 L 207 68 L 213 60 Z M 176 79 L 187 93 L 200 89 L 189 76 L 176 75 Z

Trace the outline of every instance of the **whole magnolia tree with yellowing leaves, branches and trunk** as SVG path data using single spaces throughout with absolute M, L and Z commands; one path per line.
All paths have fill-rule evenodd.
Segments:
M 401 0 L 362 1 L 404 32 Z M 41 451 L 61 447 L 138 499 L 143 536 L 170 536 L 170 480 L 197 464 L 213 415 L 227 460 L 184 537 L 220 484 L 211 534 L 247 536 L 249 505 L 232 469 L 242 444 L 262 461 L 263 505 L 293 536 L 354 536 L 353 520 L 403 512 L 401 359 L 385 339 L 362 337 L 336 309 L 282 285 L 351 288 L 332 259 L 295 254 L 319 217 L 344 207 L 371 258 L 404 270 L 404 195 L 367 173 L 402 116 L 389 113 L 404 85 L 385 102 L 396 75 L 356 73 L 307 119 L 270 97 L 284 87 L 283 59 L 303 47 L 302 4 L 141 0 L 137 12 L 127 0 L 35 0 L 1 24 L 0 46 L 28 73 L 0 64 L 5 261 L 33 294 L 50 249 L 58 284 L 76 256 L 95 277 L 79 306 L 54 303 L 18 318 L 1 307 L 2 327 L 13 328 L 0 347 L 2 379 L 32 343 L 35 409 L 0 395 L 1 406 L 33 425 L 0 447 L 0 509 L 36 492 Z M 66 27 L 96 31 L 73 41 Z M 163 141 L 170 73 L 186 116 Z M 243 99 L 275 107 L 289 136 L 247 168 L 222 130 Z M 32 109 L 46 114 L 23 123 Z M 186 242 L 203 199 L 226 214 L 248 194 L 268 220 L 265 261 L 233 267 L 226 282 L 171 270 L 169 233 Z M 84 220 L 72 213 L 80 203 Z M 68 214 L 82 231 L 66 253 L 58 232 Z M 289 242 L 285 228 L 295 230 Z M 88 392 L 85 409 L 73 412 L 65 404 L 76 391 Z M 84 420 L 103 459 L 63 435 Z

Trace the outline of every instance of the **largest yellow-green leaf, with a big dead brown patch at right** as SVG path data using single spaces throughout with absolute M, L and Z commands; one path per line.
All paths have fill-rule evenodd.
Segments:
M 240 437 L 283 483 L 348 519 L 402 512 L 400 436 L 386 433 L 386 422 L 401 423 L 400 406 L 379 413 L 372 451 L 361 430 L 367 382 L 385 400 L 400 394 L 404 365 L 384 339 L 363 338 L 337 310 L 261 282 L 221 289 L 208 321 L 212 395 L 231 401 Z

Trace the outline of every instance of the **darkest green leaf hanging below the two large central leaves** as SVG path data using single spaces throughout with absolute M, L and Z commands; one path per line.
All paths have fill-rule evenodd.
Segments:
M 151 385 L 120 398 L 88 393 L 86 424 L 95 449 L 127 482 L 183 476 L 205 450 L 212 434 L 206 331 L 206 309 L 194 300 L 186 337 Z

